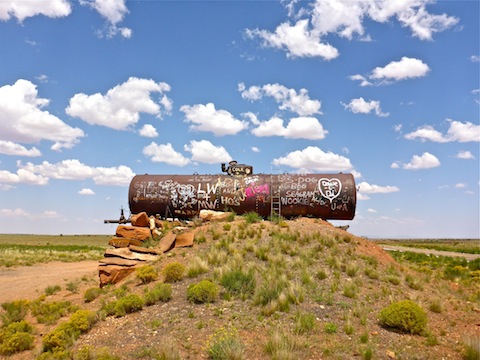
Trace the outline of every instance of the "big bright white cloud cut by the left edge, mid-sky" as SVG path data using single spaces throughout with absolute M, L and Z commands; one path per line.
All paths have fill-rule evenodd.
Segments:
M 49 100 L 38 97 L 36 85 L 19 79 L 0 87 L 0 140 L 20 143 L 53 141 L 52 150 L 70 149 L 84 133 L 43 110 Z

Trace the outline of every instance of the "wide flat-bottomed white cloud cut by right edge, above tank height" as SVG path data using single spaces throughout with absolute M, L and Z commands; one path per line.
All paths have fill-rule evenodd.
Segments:
M 433 141 L 439 143 L 445 142 L 480 142 L 480 125 L 471 122 L 462 123 L 460 121 L 448 120 L 450 127 L 446 134 L 435 130 L 433 126 L 425 125 L 417 130 L 405 135 L 408 140 Z

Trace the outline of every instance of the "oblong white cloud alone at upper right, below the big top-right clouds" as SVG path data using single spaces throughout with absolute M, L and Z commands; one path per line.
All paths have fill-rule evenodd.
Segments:
M 360 81 L 361 86 L 383 85 L 395 81 L 424 77 L 430 68 L 422 60 L 402 57 L 399 61 L 392 61 L 384 67 L 376 67 L 366 76 L 355 74 L 350 80 Z M 367 80 L 369 79 L 369 80 Z

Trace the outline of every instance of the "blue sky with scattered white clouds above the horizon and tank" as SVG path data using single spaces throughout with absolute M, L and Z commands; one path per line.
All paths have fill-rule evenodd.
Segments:
M 0 233 L 135 174 L 354 174 L 355 235 L 479 238 L 478 1 L 0 1 Z

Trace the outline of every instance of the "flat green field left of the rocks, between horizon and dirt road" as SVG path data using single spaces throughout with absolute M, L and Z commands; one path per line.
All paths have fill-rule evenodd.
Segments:
M 0 234 L 0 266 L 101 259 L 110 238 L 109 235 Z

